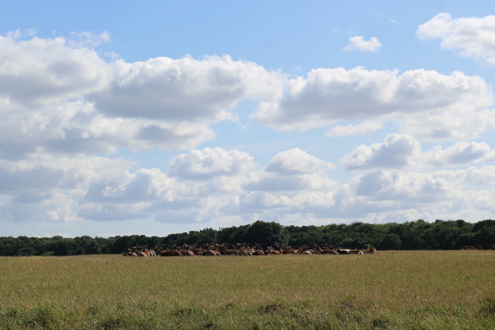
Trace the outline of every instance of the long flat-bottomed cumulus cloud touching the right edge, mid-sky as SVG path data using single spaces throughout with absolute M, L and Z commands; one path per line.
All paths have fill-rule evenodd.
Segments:
M 308 130 L 339 121 L 392 120 L 423 139 L 471 137 L 495 125 L 494 97 L 480 77 L 462 72 L 314 69 L 291 79 L 277 101 L 261 102 L 252 118 L 280 131 Z M 452 116 L 452 113 L 460 115 Z M 438 120 L 441 116 L 446 120 Z M 469 117 L 466 122 L 456 118 Z M 461 127 L 464 129 L 461 132 Z M 439 133 L 440 132 L 440 133 Z

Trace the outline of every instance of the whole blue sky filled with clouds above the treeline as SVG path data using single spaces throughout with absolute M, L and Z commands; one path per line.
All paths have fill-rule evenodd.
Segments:
M 0 1 L 0 236 L 495 217 L 494 1 Z

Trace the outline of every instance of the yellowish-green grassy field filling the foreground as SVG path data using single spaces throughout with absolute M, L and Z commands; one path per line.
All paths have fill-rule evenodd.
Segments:
M 495 329 L 495 251 L 1 257 L 0 329 Z

